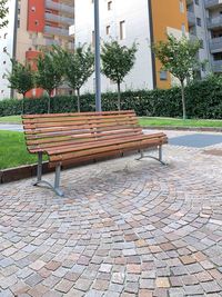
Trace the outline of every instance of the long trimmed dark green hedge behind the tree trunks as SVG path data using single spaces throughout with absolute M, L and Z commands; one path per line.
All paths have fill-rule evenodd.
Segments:
M 222 119 L 222 78 L 211 77 L 195 81 L 185 88 L 186 113 L 189 118 Z M 75 112 L 74 96 L 53 97 L 51 111 Z M 117 110 L 117 93 L 102 95 L 102 109 Z M 138 116 L 182 117 L 181 90 L 140 90 L 125 91 L 121 95 L 122 109 L 134 109 Z M 24 99 L 24 113 L 47 113 L 48 98 Z M 95 109 L 94 95 L 81 96 L 81 111 Z M 0 116 L 20 115 L 22 100 L 0 101 Z

